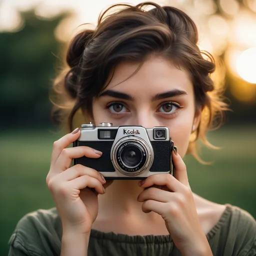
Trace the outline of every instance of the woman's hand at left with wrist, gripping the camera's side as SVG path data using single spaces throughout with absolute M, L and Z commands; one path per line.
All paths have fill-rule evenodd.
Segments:
M 98 158 L 101 152 L 87 146 L 66 148 L 80 135 L 76 128 L 53 143 L 50 169 L 46 184 L 61 218 L 63 231 L 89 233 L 98 212 L 97 194 L 105 193 L 110 182 L 98 171 L 75 164 L 73 158 Z M 103 186 L 104 185 L 104 186 Z

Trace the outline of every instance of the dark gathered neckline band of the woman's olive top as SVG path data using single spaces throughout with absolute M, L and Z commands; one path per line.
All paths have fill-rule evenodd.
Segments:
M 217 223 L 210 229 L 210 231 L 206 234 L 207 240 L 211 239 L 215 233 L 222 227 L 225 223 L 226 218 L 230 215 L 232 210 L 232 205 L 229 203 L 224 204 L 226 207 L 222 212 Z M 112 240 L 118 242 L 126 242 L 126 243 L 166 243 L 172 242 L 171 236 L 168 234 L 162 235 L 128 235 L 124 233 L 115 233 L 113 231 L 103 232 L 97 229 L 91 229 L 90 236 L 97 239 L 105 239 Z

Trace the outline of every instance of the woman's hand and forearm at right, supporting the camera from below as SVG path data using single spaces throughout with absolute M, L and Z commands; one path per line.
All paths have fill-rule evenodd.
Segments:
M 143 212 L 154 211 L 162 216 L 174 244 L 182 255 L 212 255 L 197 216 L 185 163 L 174 150 L 172 158 L 175 177 L 168 173 L 154 174 L 139 181 L 142 188 L 153 187 L 144 189 L 137 200 L 143 202 Z

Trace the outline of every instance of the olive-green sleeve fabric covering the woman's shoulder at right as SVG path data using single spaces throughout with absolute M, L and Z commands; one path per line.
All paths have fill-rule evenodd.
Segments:
M 207 234 L 209 240 L 217 241 L 224 255 L 256 254 L 256 220 L 234 205 L 226 204 L 218 222 Z

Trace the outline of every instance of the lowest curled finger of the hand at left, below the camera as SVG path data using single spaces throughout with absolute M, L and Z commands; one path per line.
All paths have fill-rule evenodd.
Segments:
M 83 175 L 68 181 L 68 185 L 74 189 L 83 189 L 85 187 L 94 188 L 99 194 L 105 193 L 102 183 L 94 177 Z

